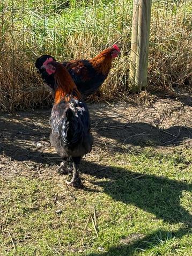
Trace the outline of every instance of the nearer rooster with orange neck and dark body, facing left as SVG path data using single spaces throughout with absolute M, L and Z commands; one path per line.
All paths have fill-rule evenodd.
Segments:
M 82 157 L 91 151 L 93 138 L 90 133 L 90 115 L 80 92 L 67 69 L 49 57 L 43 63 L 47 77 L 53 76 L 54 106 L 51 111 L 51 144 L 62 157 L 58 171 L 69 173 L 68 160 L 72 160 L 73 176 L 68 185 L 82 186 L 78 165 Z

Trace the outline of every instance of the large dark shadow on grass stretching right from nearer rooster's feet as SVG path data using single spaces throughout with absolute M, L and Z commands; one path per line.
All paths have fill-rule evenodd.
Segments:
M 94 185 L 103 187 L 114 200 L 134 204 L 166 222 L 192 226 L 191 215 L 180 205 L 182 191 L 191 192 L 191 184 L 91 162 L 82 162 L 81 170 L 98 179 L 110 179 L 97 180 Z

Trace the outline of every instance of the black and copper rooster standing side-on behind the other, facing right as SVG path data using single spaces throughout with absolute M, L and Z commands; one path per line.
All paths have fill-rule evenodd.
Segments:
M 90 60 L 64 61 L 62 64 L 69 71 L 82 96 L 88 96 L 96 92 L 104 83 L 112 66 L 113 58 L 119 54 L 119 47 L 113 45 Z M 42 63 L 50 57 L 53 58 L 50 55 L 42 55 L 36 60 L 35 67 L 39 70 L 43 81 L 53 89 L 53 75 L 48 75 L 46 70 L 41 68 Z M 55 61 L 55 58 L 53 60 Z

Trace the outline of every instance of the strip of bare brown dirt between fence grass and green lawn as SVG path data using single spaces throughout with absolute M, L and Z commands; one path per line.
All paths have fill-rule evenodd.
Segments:
M 94 148 L 88 160 L 97 160 L 98 152 L 108 155 L 147 146 L 154 150 L 191 147 L 192 113 L 186 103 L 158 99 L 148 106 L 90 104 Z M 50 109 L 2 114 L 1 175 L 56 173 L 61 159 L 49 142 L 49 116 Z

